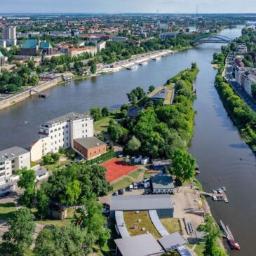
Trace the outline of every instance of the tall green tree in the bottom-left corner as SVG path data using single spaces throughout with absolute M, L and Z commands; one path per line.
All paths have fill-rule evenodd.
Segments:
M 8 220 L 8 231 L 4 233 L 4 243 L 13 247 L 13 255 L 24 255 L 24 252 L 33 242 L 35 224 L 34 215 L 28 208 L 20 208 L 13 213 L 13 217 Z

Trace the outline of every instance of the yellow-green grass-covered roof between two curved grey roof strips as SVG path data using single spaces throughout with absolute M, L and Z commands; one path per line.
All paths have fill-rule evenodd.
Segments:
M 154 238 L 161 238 L 161 235 L 151 222 L 148 211 L 140 211 L 139 213 L 123 212 L 123 219 L 126 223 L 126 228 L 130 236 L 147 234 L 147 231 L 149 231 L 149 233 L 151 233 L 154 236 Z M 142 221 L 138 222 L 138 220 Z M 133 229 L 135 225 L 137 228 Z M 145 228 L 144 231 L 142 231 L 143 227 Z

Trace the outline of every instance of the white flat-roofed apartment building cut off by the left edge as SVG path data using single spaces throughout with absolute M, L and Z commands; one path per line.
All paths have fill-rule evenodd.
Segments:
M 22 147 L 11 147 L 0 151 L 0 185 L 11 182 L 15 170 L 30 169 L 30 152 Z

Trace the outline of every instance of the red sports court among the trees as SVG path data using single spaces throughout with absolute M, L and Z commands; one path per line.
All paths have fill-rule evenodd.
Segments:
M 102 163 L 102 166 L 107 168 L 107 180 L 113 182 L 114 180 L 123 177 L 128 173 L 131 173 L 133 170 L 137 169 L 137 166 L 129 166 L 127 163 L 120 161 L 119 159 L 112 159 L 106 163 Z

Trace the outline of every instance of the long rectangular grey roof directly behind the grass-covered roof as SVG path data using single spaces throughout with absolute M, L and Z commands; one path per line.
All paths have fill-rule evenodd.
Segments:
M 110 210 L 173 209 L 170 195 L 112 196 Z

